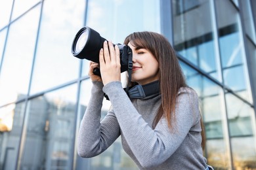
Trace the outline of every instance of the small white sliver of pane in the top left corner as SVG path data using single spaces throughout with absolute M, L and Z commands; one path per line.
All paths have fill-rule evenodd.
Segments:
M 12 0 L 0 1 L 0 30 L 9 24 L 12 10 Z

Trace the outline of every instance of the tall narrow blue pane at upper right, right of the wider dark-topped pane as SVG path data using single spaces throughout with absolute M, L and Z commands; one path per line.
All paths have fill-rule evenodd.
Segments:
M 247 62 L 238 11 L 230 1 L 217 0 L 216 7 L 218 7 L 216 14 L 224 84 L 251 102 Z

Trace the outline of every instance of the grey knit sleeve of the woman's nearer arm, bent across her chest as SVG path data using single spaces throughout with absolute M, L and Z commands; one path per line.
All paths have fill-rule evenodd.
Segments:
M 188 131 L 195 124 L 192 110 L 196 96 L 179 93 L 175 109 L 175 123 L 170 129 L 165 116 L 152 129 L 137 112 L 120 82 L 110 82 L 103 91 L 108 94 L 119 126 L 133 154 L 142 167 L 154 167 L 167 160 L 184 141 Z M 150 114 L 150 113 L 148 113 Z M 194 120 L 194 121 L 193 121 Z M 197 120 L 198 121 L 198 120 Z

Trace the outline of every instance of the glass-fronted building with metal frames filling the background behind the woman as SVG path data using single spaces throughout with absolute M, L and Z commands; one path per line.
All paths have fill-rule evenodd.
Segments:
M 255 16 L 254 0 L 0 1 L 0 169 L 138 169 L 120 139 L 77 156 L 92 84 L 71 45 L 85 25 L 116 43 L 167 37 L 200 96 L 208 163 L 256 169 Z

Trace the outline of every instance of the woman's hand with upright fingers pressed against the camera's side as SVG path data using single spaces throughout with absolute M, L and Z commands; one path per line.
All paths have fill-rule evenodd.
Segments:
M 99 61 L 104 85 L 113 81 L 121 81 L 121 64 L 117 45 L 114 47 L 111 41 L 104 41 L 103 49 L 100 49 Z

